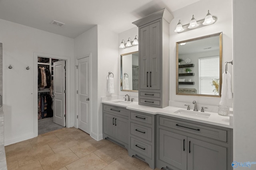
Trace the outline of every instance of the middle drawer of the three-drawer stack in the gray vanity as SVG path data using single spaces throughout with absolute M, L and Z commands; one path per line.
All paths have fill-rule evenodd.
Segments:
M 152 129 L 150 127 L 131 123 L 131 134 L 152 141 Z

